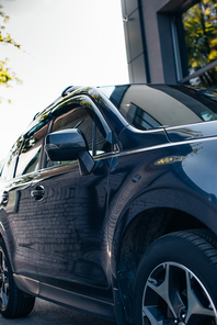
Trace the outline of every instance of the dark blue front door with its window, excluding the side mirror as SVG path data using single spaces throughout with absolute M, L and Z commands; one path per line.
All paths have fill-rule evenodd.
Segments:
M 80 173 L 77 160 L 47 161 L 34 179 L 36 267 L 44 296 L 43 283 L 84 294 L 94 287 L 92 293 L 110 295 L 105 212 L 111 144 L 99 123 L 90 104 L 57 110 L 53 132 L 79 128 L 90 153 L 100 156 L 90 175 Z

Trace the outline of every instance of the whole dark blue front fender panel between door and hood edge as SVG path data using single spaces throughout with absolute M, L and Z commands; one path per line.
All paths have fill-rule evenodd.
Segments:
M 179 210 L 217 234 L 215 144 L 214 137 L 170 143 L 155 149 L 147 148 L 139 155 L 137 150 L 118 155 L 118 166 L 110 175 L 112 194 L 107 214 L 113 272 L 129 223 L 150 209 Z M 206 172 L 198 161 L 208 166 Z

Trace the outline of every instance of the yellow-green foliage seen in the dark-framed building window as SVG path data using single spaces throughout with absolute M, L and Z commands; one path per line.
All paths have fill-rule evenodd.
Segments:
M 190 72 L 217 59 L 217 0 L 203 0 L 182 15 Z M 201 76 L 202 83 L 217 86 L 217 67 Z

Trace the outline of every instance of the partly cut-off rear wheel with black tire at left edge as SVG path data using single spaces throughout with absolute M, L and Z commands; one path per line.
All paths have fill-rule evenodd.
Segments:
M 7 318 L 27 316 L 35 298 L 25 294 L 14 283 L 5 245 L 0 238 L 0 313 Z

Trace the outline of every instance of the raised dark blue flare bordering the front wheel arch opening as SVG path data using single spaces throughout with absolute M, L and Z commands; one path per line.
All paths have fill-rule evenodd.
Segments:
M 186 189 L 158 188 L 134 198 L 122 211 L 113 238 L 110 243 L 112 249 L 112 271 L 116 274 L 116 267 L 124 235 L 129 225 L 142 213 L 146 217 L 152 209 L 172 209 L 187 213 L 210 228 L 217 235 L 217 206 L 216 202 Z M 167 222 L 167 221 L 165 221 Z

